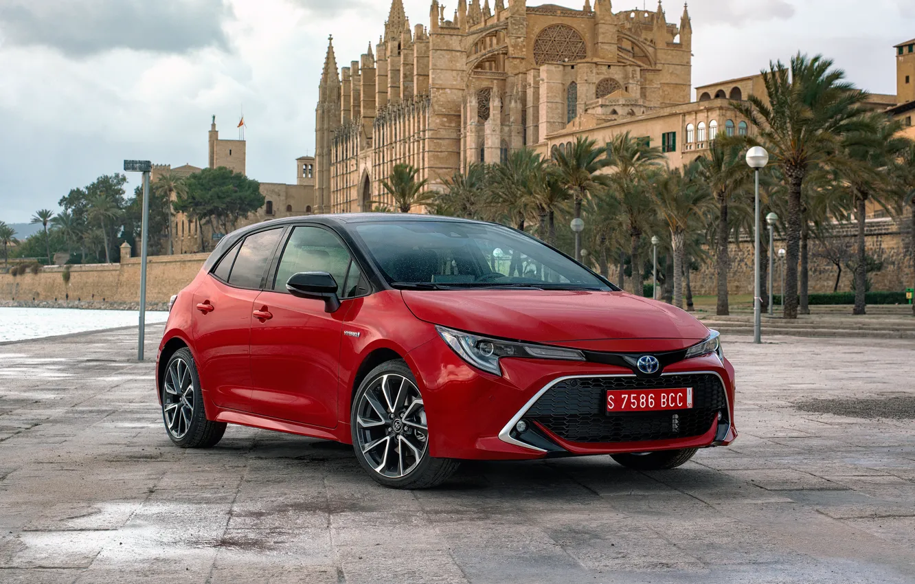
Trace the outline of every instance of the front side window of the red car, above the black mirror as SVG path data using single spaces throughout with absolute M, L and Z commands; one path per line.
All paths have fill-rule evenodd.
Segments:
M 350 252 L 339 239 L 320 227 L 296 227 L 276 269 L 274 290 L 285 291 L 290 276 L 299 272 L 328 272 L 337 280 L 337 294 L 346 281 Z

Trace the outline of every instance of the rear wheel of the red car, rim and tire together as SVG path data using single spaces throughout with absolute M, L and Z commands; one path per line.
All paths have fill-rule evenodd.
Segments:
M 162 421 L 168 438 L 182 449 L 209 449 L 226 431 L 222 422 L 207 419 L 194 357 L 187 348 L 175 351 L 162 378 Z

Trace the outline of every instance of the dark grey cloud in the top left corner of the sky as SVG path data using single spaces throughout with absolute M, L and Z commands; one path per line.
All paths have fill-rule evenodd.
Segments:
M 44 46 L 73 57 L 111 49 L 225 48 L 227 14 L 222 0 L 4 0 L 0 47 Z

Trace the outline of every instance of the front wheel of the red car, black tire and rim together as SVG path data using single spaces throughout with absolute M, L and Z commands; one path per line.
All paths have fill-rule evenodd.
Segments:
M 458 470 L 458 460 L 429 455 L 423 396 L 406 362 L 383 362 L 372 369 L 350 409 L 356 459 L 379 484 L 428 489 Z

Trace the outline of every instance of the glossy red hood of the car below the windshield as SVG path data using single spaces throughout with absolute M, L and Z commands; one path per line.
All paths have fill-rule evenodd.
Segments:
M 705 325 L 684 310 L 626 292 L 404 290 L 403 295 L 418 319 L 503 339 L 600 351 L 602 343 L 588 341 L 667 339 L 686 347 L 708 336 Z

